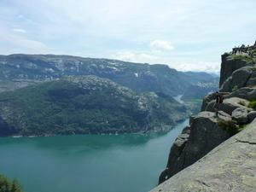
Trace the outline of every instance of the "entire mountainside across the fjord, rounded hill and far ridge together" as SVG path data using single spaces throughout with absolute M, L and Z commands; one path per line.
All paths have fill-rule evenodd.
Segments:
M 172 96 L 218 86 L 208 73 L 69 55 L 1 55 L 0 68 L 2 136 L 168 131 L 195 108 Z

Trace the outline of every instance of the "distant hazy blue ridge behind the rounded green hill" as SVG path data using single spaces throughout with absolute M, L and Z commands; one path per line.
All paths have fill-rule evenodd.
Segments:
M 183 94 L 191 84 L 213 80 L 208 73 L 182 73 L 166 65 L 149 65 L 69 55 L 0 55 L 0 91 L 60 79 L 65 75 L 95 75 L 138 93 Z

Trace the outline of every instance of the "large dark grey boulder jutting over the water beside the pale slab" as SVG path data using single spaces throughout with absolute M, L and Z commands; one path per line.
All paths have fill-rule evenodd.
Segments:
M 160 174 L 159 183 L 190 166 L 230 137 L 227 131 L 218 126 L 219 118 L 231 120 L 230 115 L 222 112 L 218 116 L 205 111 L 195 116 L 190 127 L 172 145 L 166 170 Z M 186 131 L 190 132 L 186 134 Z

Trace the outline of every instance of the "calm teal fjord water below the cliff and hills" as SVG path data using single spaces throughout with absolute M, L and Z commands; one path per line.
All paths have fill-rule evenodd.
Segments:
M 185 125 L 164 135 L 0 138 L 0 172 L 26 192 L 146 192 Z

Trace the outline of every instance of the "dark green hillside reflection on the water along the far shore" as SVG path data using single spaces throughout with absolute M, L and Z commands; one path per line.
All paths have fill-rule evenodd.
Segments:
M 137 146 L 148 143 L 149 140 L 163 137 L 167 133 L 147 134 L 121 134 L 121 135 L 75 135 L 56 137 L 3 137 L 0 138 L 0 145 L 3 144 L 29 144 L 36 148 L 46 149 L 72 149 L 84 147 L 86 149 L 104 150 L 120 146 Z

